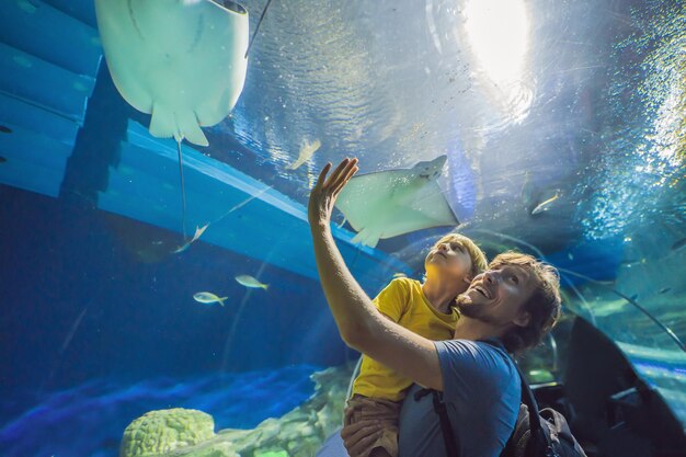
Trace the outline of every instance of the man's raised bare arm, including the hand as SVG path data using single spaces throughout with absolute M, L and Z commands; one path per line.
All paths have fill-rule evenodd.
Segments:
M 331 235 L 331 212 L 339 192 L 357 171 L 345 159 L 327 179 L 322 170 L 308 207 L 315 258 L 324 295 L 343 341 L 422 386 L 443 390 L 436 347 L 431 340 L 385 318 L 355 281 Z

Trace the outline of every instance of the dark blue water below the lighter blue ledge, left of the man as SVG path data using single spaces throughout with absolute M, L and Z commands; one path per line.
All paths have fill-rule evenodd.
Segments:
M 260 263 L 201 243 L 145 263 L 107 215 L 7 186 L 0 196 L 12 220 L 0 296 L 13 304 L 0 321 L 12 367 L 0 372 L 2 456 L 113 457 L 126 425 L 153 409 L 253 427 L 305 401 L 318 367 L 354 356 L 331 338 L 312 281 L 266 266 L 270 295 L 245 289 L 233 276 Z M 221 289 L 227 307 L 194 301 L 201 289 Z

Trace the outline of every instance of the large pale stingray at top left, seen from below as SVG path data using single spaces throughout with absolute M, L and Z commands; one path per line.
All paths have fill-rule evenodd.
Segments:
M 243 90 L 248 12 L 231 1 L 95 0 L 110 73 L 150 134 L 207 146 Z

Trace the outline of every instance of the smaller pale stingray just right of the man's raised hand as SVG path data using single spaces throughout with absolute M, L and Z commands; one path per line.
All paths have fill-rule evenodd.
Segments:
M 379 239 L 459 221 L 438 187 L 447 156 L 411 169 L 353 176 L 335 206 L 357 231 L 353 242 L 374 248 Z

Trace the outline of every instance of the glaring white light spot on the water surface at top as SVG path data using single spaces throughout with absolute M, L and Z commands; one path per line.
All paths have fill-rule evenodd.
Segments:
M 519 82 L 529 23 L 523 0 L 468 0 L 465 26 L 487 75 L 503 91 Z

